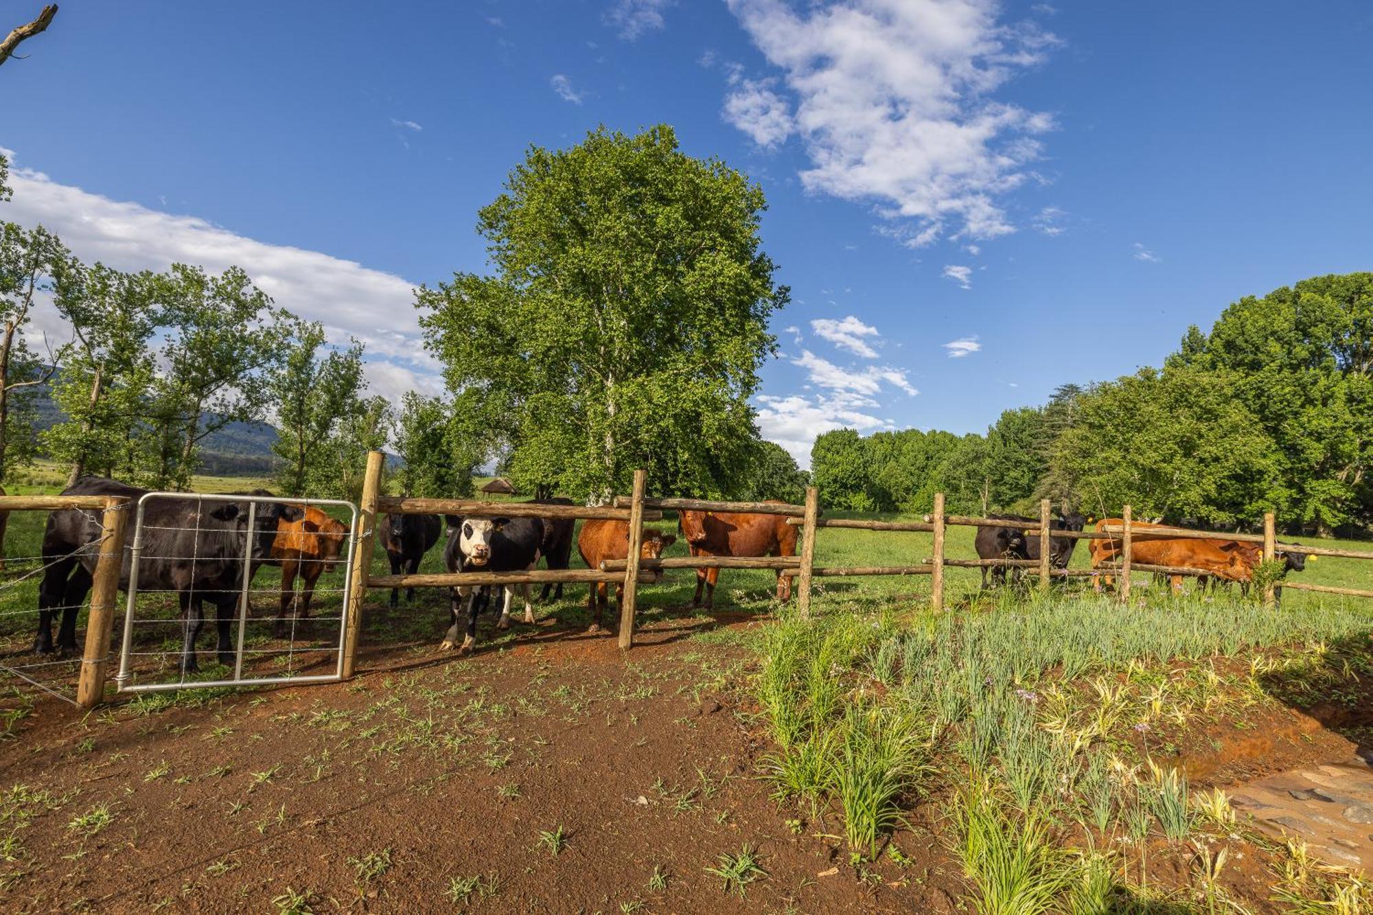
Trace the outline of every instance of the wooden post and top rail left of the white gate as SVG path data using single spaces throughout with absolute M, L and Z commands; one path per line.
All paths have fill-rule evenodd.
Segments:
M 96 554 L 91 581 L 91 613 L 86 617 L 85 647 L 77 679 L 77 703 L 84 709 L 95 708 L 104 698 L 129 507 L 130 503 L 124 496 L 0 496 L 0 511 L 5 512 L 65 508 L 100 512 L 100 539 L 93 544 L 100 552 Z

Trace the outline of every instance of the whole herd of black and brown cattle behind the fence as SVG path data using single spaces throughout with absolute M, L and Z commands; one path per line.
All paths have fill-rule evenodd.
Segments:
M 63 495 L 82 496 L 126 496 L 137 501 L 147 490 L 102 477 L 82 477 Z M 238 496 L 270 497 L 270 493 L 231 493 Z M 535 500 L 537 504 L 570 506 L 571 500 Z M 993 515 L 995 519 L 1030 522 L 1019 515 Z M 251 519 L 251 529 L 249 528 Z M 1079 532 L 1087 519 L 1068 514 L 1052 522 L 1054 530 Z M 1120 519 L 1108 518 L 1097 525 L 1120 525 Z M 378 525 L 378 536 L 391 563 L 391 573 L 415 574 L 426 552 L 434 548 L 446 530 L 443 563 L 449 572 L 519 573 L 534 569 L 544 559 L 549 569 L 568 569 L 574 545 L 571 518 L 512 517 L 512 518 L 460 518 L 456 515 L 386 515 Z M 1186 567 L 1196 570 L 1203 584 L 1241 583 L 1247 585 L 1254 578 L 1254 569 L 1262 558 L 1258 545 L 1234 540 L 1190 540 L 1166 534 L 1149 534 L 1148 525 L 1135 522 L 1131 559 L 1141 565 Z M 741 512 L 678 512 L 678 530 L 686 541 L 692 556 L 795 556 L 798 528 L 787 523 L 780 515 Z M 34 651 L 52 653 L 60 650 L 76 653 L 76 621 L 86 592 L 91 589 L 96 559 L 100 554 L 100 519 L 95 512 L 81 510 L 58 510 L 48 517 L 43 537 L 44 577 L 38 588 L 38 632 L 34 637 Z M 284 636 L 287 625 L 309 618 L 310 600 L 319 577 L 332 570 L 341 562 L 341 552 L 347 541 L 349 529 L 330 518 L 314 506 L 290 504 L 288 501 L 258 501 L 250 511 L 249 501 L 202 501 L 195 497 L 154 497 L 147 500 L 141 528 L 141 555 L 139 558 L 137 588 L 144 591 L 174 592 L 185 621 L 183 632 L 183 670 L 198 669 L 195 642 L 205 621 L 203 605 L 209 602 L 216 609 L 218 629 L 218 658 L 222 664 L 233 664 L 235 651 L 231 643 L 231 624 L 236 615 L 240 589 L 243 588 L 243 563 L 249 558 L 249 580 L 264 565 L 281 569 L 280 614 L 275 617 L 273 631 Z M 644 559 L 658 559 L 677 537 L 654 529 L 644 530 Z M 597 569 L 601 562 L 625 559 L 629 555 L 629 523 L 625 521 L 589 519 L 575 534 L 575 545 L 589 569 Z M 1072 556 L 1076 539 L 1052 536 L 1049 540 L 1049 562 L 1056 569 L 1065 569 Z M 1120 541 L 1098 539 L 1089 541 L 1092 565 L 1098 567 L 1107 562 L 1119 561 Z M 1027 537 L 1023 528 L 979 528 L 976 550 L 982 559 L 1039 559 L 1039 539 Z M 1288 570 L 1304 567 L 1302 554 L 1278 554 L 1285 559 Z M 119 572 L 119 589 L 126 591 L 130 580 L 130 550 L 125 548 Z M 983 566 L 983 587 L 990 576 L 991 584 L 1004 584 L 1008 566 Z M 1012 580 L 1019 567 L 1009 567 Z M 714 603 L 715 583 L 719 569 L 696 569 L 696 592 L 693 606 Z M 297 578 L 302 587 L 295 589 Z M 1109 583 L 1109 574 L 1094 578 L 1097 589 L 1103 578 Z M 1173 576 L 1174 589 L 1181 588 L 1181 577 Z M 453 588 L 450 589 L 450 626 L 443 637 L 442 648 L 457 647 L 471 651 L 476 637 L 476 621 L 493 595 L 504 591 L 498 628 L 509 626 L 509 614 L 516 589 L 524 602 L 524 621 L 533 622 L 534 613 L 529 584 L 507 584 L 498 587 Z M 541 599 L 546 599 L 552 584 L 545 584 Z M 622 598 L 623 585 L 616 585 L 616 600 Z M 553 596 L 562 598 L 559 583 Z M 413 588 L 406 592 L 413 599 Z M 791 578 L 777 573 L 777 598 L 791 598 Z M 397 606 L 398 589 L 391 589 L 391 606 Z M 465 600 L 465 613 L 463 602 Z M 605 583 L 588 588 L 588 610 L 592 618 L 590 629 L 600 631 L 608 603 Z M 56 644 L 52 639 L 52 618 L 60 614 Z M 465 632 L 459 644 L 459 629 L 464 622 Z

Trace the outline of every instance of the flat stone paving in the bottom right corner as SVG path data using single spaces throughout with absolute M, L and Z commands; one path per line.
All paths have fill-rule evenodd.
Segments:
M 1262 831 L 1304 841 L 1329 864 L 1373 874 L 1373 767 L 1362 758 L 1258 779 L 1230 801 Z

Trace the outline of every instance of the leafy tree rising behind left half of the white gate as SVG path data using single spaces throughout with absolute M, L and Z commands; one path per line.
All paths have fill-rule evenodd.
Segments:
M 273 309 L 238 267 L 211 276 L 173 264 L 162 284 L 169 335 L 150 411 L 152 478 L 184 489 L 206 436 L 262 418 L 266 375 L 281 359 L 290 315 Z

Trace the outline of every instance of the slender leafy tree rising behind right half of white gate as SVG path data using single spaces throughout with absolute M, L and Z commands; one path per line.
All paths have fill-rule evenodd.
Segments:
M 288 496 L 312 495 L 327 485 L 330 444 L 339 425 L 358 405 L 362 381 L 362 343 L 345 350 L 324 346 L 324 326 L 297 321 L 294 342 L 268 375 L 266 389 L 276 404 L 277 440 L 272 451 L 281 459 L 277 485 Z

